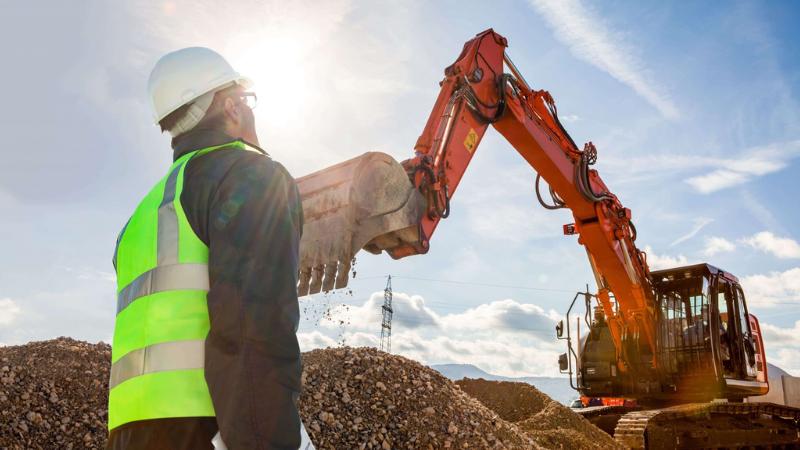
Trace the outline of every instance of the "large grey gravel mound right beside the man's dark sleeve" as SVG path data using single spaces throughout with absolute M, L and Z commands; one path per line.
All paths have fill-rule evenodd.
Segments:
M 318 449 L 537 446 L 438 372 L 373 348 L 303 355 L 300 414 Z

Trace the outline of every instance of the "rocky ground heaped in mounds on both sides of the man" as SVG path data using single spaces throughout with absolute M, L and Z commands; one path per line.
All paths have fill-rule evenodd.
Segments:
M 69 338 L 0 347 L 0 450 L 103 448 L 111 348 Z M 532 386 L 453 383 L 373 348 L 303 354 L 299 408 L 322 449 L 615 448 Z

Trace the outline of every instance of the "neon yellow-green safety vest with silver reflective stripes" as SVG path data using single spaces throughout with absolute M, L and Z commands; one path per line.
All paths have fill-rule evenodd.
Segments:
M 183 155 L 117 239 L 109 430 L 137 420 L 215 415 L 204 372 L 208 247 L 180 199 L 189 160 L 220 148 L 256 151 L 234 141 Z

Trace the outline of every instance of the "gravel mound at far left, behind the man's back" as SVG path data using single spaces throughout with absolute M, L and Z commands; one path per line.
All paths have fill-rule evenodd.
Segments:
M 111 347 L 69 338 L 0 347 L 0 448 L 103 448 Z

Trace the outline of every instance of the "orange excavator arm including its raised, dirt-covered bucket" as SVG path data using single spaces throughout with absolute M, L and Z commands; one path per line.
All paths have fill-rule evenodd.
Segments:
M 575 222 L 564 232 L 577 234 L 586 249 L 619 369 L 643 364 L 652 369 L 655 299 L 645 254 L 634 243 L 631 212 L 590 168 L 597 160 L 595 146 L 575 144 L 553 98 L 530 87 L 506 47 L 506 39 L 491 29 L 464 45 L 445 69 L 413 158 L 393 164 L 388 155 L 368 153 L 298 180 L 307 221 L 299 292 L 346 285 L 350 260 L 361 248 L 396 259 L 427 252 L 492 126 L 537 172 L 539 201 L 572 212 Z M 542 198 L 540 179 L 549 185 L 550 203 Z M 644 361 L 642 354 L 648 355 Z

